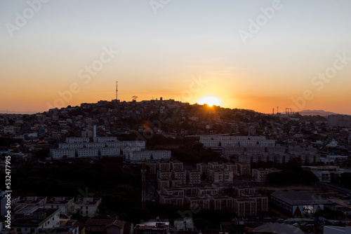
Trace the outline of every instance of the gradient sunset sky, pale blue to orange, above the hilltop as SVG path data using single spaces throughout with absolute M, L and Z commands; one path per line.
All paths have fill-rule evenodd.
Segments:
M 216 97 L 351 114 L 350 0 L 0 3 L 0 112 Z M 274 109 L 274 110 L 273 110 Z

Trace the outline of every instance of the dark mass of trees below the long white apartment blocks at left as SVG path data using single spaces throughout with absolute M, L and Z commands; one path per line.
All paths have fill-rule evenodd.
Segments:
M 26 163 L 11 174 L 13 195 L 94 196 L 111 212 L 140 205 L 140 165 L 123 166 L 122 158 Z M 1 186 L 3 186 L 1 184 Z M 4 188 L 2 188 L 4 189 Z

